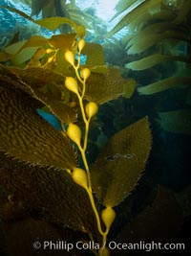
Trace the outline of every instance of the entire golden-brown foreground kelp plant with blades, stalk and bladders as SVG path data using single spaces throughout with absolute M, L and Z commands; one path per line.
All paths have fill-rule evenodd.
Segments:
M 117 205 L 138 183 L 151 150 L 151 132 L 147 117 L 123 128 L 91 166 L 88 135 L 99 105 L 124 91 L 132 94 L 135 81 L 106 66 L 102 47 L 87 43 L 85 28 L 71 19 L 33 20 L 7 9 L 46 29 L 68 24 L 73 32 L 11 41 L 0 53 L 1 247 L 7 255 L 35 253 L 34 238 L 47 240 L 49 230 L 49 238 L 92 241 L 96 245 L 86 248 L 110 255 L 106 243 Z M 52 113 L 60 130 L 37 109 Z M 51 223 L 64 225 L 64 231 Z M 15 236 L 24 248 L 14 244 Z M 85 252 L 62 251 L 68 253 Z

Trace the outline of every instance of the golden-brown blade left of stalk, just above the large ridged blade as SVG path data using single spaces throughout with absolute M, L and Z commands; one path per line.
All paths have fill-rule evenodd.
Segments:
M 74 110 L 61 101 L 61 85 L 65 80 L 62 74 L 41 67 L 25 69 L 11 67 L 9 71 L 23 81 L 31 90 L 32 96 L 47 105 L 61 123 L 69 124 L 75 121 Z M 62 86 L 62 91 L 64 89 L 65 87 Z

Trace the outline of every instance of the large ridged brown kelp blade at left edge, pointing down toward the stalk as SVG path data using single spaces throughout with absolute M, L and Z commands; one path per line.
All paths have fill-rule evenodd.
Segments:
M 33 165 L 76 166 L 67 138 L 43 120 L 30 102 L 32 98 L 19 89 L 0 87 L 0 150 Z

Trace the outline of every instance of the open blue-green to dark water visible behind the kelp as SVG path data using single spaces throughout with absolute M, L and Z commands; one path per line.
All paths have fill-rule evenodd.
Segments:
M 117 35 L 112 36 L 109 39 L 105 36 L 116 26 L 117 22 L 119 21 L 119 17 L 117 17 L 117 19 L 114 21 L 110 21 L 111 18 L 116 14 L 115 6 L 117 5 L 117 2 L 118 1 L 109 0 L 75 1 L 75 4 L 80 9 L 82 9 L 82 11 L 85 10 L 85 12 L 92 13 L 93 16 L 95 15 L 96 22 L 98 22 L 97 18 L 100 18 L 100 27 L 98 23 L 96 24 L 98 27 L 96 30 L 97 35 L 95 32 L 92 33 L 90 30 L 89 34 L 86 36 L 86 40 L 88 42 L 100 43 L 104 49 L 105 62 L 107 65 L 111 67 L 117 67 L 117 70 L 120 72 L 124 79 L 134 79 L 137 82 L 137 88 L 152 83 L 153 81 L 166 79 L 168 76 L 172 75 L 173 72 L 177 69 L 177 66 L 174 64 L 174 62 L 171 62 L 170 64 L 166 63 L 164 65 L 158 65 L 155 70 L 149 71 L 135 71 L 126 68 L 126 65 L 131 62 L 131 59 L 138 59 L 138 56 L 135 57 L 134 55 L 128 55 L 127 49 L 123 45 L 122 39 L 124 39 L 127 35 L 129 28 L 123 28 L 123 30 L 118 32 Z M 169 1 L 170 6 L 174 2 L 178 1 Z M 16 1 L 15 3 L 13 0 L 0 0 L 0 5 L 9 5 L 27 13 L 28 15 L 31 14 L 29 6 L 23 4 L 20 1 Z M 41 18 L 41 12 L 37 18 Z M 44 35 L 51 37 L 52 35 L 60 34 L 59 30 L 50 32 L 46 29 L 41 29 L 38 26 L 34 26 L 32 22 L 26 21 L 25 18 L 16 13 L 12 13 L 6 9 L 0 9 L 0 49 L 5 49 L 5 46 L 9 43 L 9 41 L 11 41 L 12 35 L 14 35 L 17 31 L 20 31 L 19 36 L 21 39 L 29 38 L 31 35 Z M 184 43 L 180 44 L 179 49 L 176 49 L 177 53 L 178 50 L 182 56 L 187 54 L 187 47 Z M 151 48 L 150 51 L 155 51 L 155 49 Z M 189 56 L 189 58 L 191 57 Z M 84 61 L 86 61 L 86 58 Z M 182 70 L 184 70 L 184 65 L 180 65 L 179 69 L 180 72 L 183 72 Z M 161 113 L 180 109 L 186 109 L 186 111 L 190 110 L 190 103 L 188 103 L 188 101 L 186 102 L 185 100 L 187 99 L 188 93 L 190 93 L 190 90 L 187 88 L 184 89 L 184 87 L 182 90 L 175 87 L 171 90 L 164 90 L 157 94 L 150 95 L 139 94 L 138 90 L 135 90 L 133 96 L 130 99 L 119 97 L 117 100 L 113 100 L 104 105 L 100 105 L 97 114 L 97 120 L 100 126 L 96 126 L 90 130 L 90 144 L 87 151 L 87 156 L 90 163 L 94 163 L 97 155 L 105 147 L 109 139 L 115 133 L 117 133 L 117 131 L 135 123 L 145 116 L 148 117 L 150 122 L 150 128 L 153 137 L 152 150 L 146 164 L 144 175 L 142 175 L 141 179 L 138 181 L 138 186 L 136 187 L 135 191 L 133 191 L 128 198 L 126 198 L 121 202 L 120 205 L 117 206 L 118 219 L 112 227 L 110 240 L 117 240 L 118 237 L 120 238 L 119 235 L 122 234 L 122 238 L 119 240 L 119 242 L 122 241 L 125 243 L 125 237 L 127 236 L 129 236 L 130 241 L 137 241 L 137 237 L 131 233 L 131 230 L 134 228 L 137 230 L 138 239 L 141 239 L 141 236 L 148 238 L 150 234 L 148 233 L 148 235 L 145 235 L 145 233 L 142 232 L 142 229 L 146 229 L 147 224 L 151 222 L 151 226 L 156 225 L 157 228 L 159 228 L 159 237 L 156 235 L 156 240 L 158 238 L 162 238 L 163 236 L 165 237 L 166 235 L 169 241 L 171 241 L 172 236 L 173 242 L 176 241 L 177 243 L 185 243 L 187 244 L 187 248 L 191 243 L 190 237 L 186 235 L 186 231 L 189 231 L 189 227 L 191 226 L 191 173 L 189 161 L 191 131 L 187 132 L 187 129 L 186 132 L 182 131 L 185 129 L 183 125 L 183 128 L 181 129 L 181 118 L 178 119 L 178 121 L 176 121 L 177 123 L 174 124 L 174 127 L 178 127 L 178 131 L 173 131 L 173 128 L 171 130 L 167 130 L 167 128 L 162 128 L 161 125 Z M 57 130 L 61 129 L 57 118 L 53 114 L 48 114 L 37 108 L 36 112 L 38 112 L 38 114 L 47 120 L 54 128 Z M 168 123 L 168 120 L 170 119 L 170 115 L 166 116 L 165 120 L 163 118 L 163 122 L 165 121 Z M 186 114 L 185 126 L 190 128 L 190 123 L 190 114 Z M 157 218 L 153 221 L 154 218 L 152 219 L 153 216 L 149 213 L 149 205 L 151 204 L 153 198 L 156 197 L 158 189 L 159 203 L 156 203 L 155 210 L 158 209 L 159 212 L 156 214 Z M 59 197 L 59 195 L 57 195 L 57 197 Z M 48 203 L 49 198 L 46 198 L 46 200 Z M 150 219 L 148 216 L 146 216 L 146 214 L 145 216 L 144 214 L 140 214 L 137 219 L 138 226 L 136 226 L 136 223 L 133 222 L 130 229 L 125 229 L 124 232 L 123 226 L 127 225 L 133 216 L 137 216 L 139 213 L 143 212 L 144 208 L 147 209 L 147 214 L 150 214 L 148 214 Z M 34 217 L 36 220 L 40 220 L 41 218 L 39 213 L 33 213 L 32 217 Z M 155 221 L 158 220 L 159 222 L 156 223 Z M 169 220 L 173 220 L 175 222 L 177 221 L 177 225 L 174 225 L 174 222 L 172 221 L 174 229 L 172 228 L 172 232 L 169 231 L 168 233 L 168 222 L 170 222 Z M 47 221 L 49 222 L 49 220 Z M 50 222 L 52 223 L 52 221 Z M 8 222 L 8 228 L 10 228 L 9 224 L 10 223 Z M 53 228 L 56 230 L 59 224 L 60 223 L 53 223 Z M 141 225 L 143 226 L 142 229 Z M 161 230 L 160 226 L 163 227 Z M 60 227 L 58 227 L 58 230 L 58 233 L 61 237 L 65 235 L 65 231 L 60 232 Z M 71 230 L 68 230 L 66 227 L 66 233 L 69 234 L 69 238 L 71 237 L 73 239 L 73 236 L 70 232 Z M 166 232 L 166 234 L 164 232 Z M 177 234 L 175 238 L 173 235 L 174 233 Z M 12 236 L 14 236 L 14 234 L 17 234 L 16 231 L 12 232 Z M 51 234 L 51 236 L 52 235 L 53 234 Z M 77 241 L 79 234 L 76 232 L 75 235 Z M 155 237 L 151 237 L 150 239 L 153 240 Z M 3 235 L 1 234 L 0 248 L 2 247 L 2 253 L 4 253 L 2 255 L 14 256 L 13 252 L 12 254 L 6 254 L 6 252 L 4 252 L 5 249 L 2 245 L 4 244 L 4 240 L 5 238 L 3 238 Z M 77 252 L 75 253 L 78 255 Z M 118 252 L 114 252 L 112 255 L 119 255 L 117 253 Z M 173 253 L 174 252 L 171 252 L 169 254 L 174 255 Z M 84 255 L 93 254 L 85 251 Z M 121 256 L 122 255 L 131 255 L 131 253 L 129 254 L 123 251 L 121 252 Z M 155 256 L 161 254 L 154 252 L 151 255 Z M 162 255 L 168 255 L 168 253 L 165 252 Z M 180 252 L 180 255 L 190 254 L 185 251 Z

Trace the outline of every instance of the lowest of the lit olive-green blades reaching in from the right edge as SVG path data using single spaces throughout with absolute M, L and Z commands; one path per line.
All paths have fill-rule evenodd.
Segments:
M 139 94 L 150 95 L 158 93 L 176 86 L 189 85 L 191 78 L 171 77 L 164 80 L 153 82 L 149 85 L 138 87 Z

